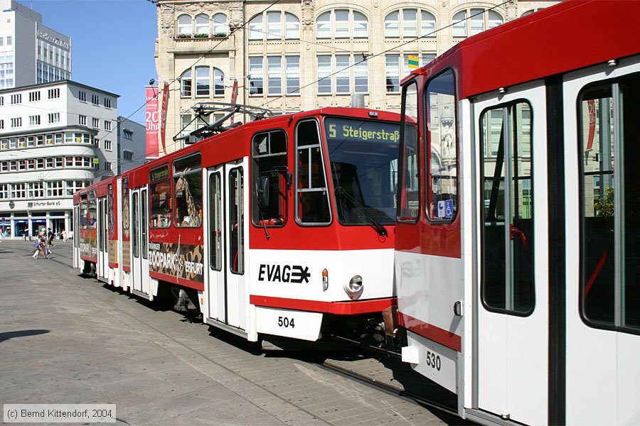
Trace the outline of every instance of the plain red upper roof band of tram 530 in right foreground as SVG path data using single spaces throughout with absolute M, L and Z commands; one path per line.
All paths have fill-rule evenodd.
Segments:
M 458 70 L 460 98 L 577 70 L 640 51 L 640 1 L 565 0 L 462 40 L 412 71 Z

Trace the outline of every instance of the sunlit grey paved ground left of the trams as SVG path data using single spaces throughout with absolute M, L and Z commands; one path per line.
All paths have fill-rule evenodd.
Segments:
M 446 425 L 431 413 L 0 242 L 0 403 L 117 404 L 128 425 Z

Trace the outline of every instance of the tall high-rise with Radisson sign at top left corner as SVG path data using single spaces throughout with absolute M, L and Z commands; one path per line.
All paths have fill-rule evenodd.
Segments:
M 71 79 L 71 39 L 43 26 L 42 15 L 0 0 L 0 89 Z

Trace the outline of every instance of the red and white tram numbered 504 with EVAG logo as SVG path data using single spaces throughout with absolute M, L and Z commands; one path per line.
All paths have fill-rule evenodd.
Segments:
M 399 114 L 326 108 L 206 138 L 80 190 L 76 265 L 149 300 L 170 289 L 250 341 L 380 317 L 399 137 Z

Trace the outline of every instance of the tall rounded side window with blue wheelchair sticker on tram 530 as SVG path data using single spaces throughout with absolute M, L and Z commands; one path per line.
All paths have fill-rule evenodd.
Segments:
M 458 209 L 456 92 L 452 70 L 427 84 L 427 217 L 450 222 Z

